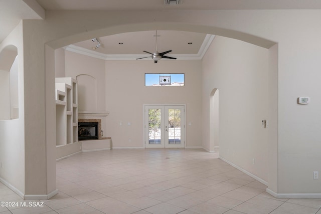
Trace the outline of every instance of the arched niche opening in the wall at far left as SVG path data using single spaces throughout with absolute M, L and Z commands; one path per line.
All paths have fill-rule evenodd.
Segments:
M 0 120 L 19 118 L 18 48 L 6 46 L 0 52 Z

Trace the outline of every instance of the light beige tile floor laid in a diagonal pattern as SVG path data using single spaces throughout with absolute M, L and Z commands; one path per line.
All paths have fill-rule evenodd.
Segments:
M 321 198 L 274 198 L 266 186 L 202 149 L 114 149 L 57 162 L 59 193 L 43 207 L 22 207 L 0 183 L 8 213 L 321 214 Z M 26 201 L 29 202 L 29 201 Z

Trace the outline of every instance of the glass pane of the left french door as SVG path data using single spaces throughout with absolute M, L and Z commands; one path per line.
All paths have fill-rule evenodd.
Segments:
M 148 143 L 161 144 L 161 109 L 148 109 Z

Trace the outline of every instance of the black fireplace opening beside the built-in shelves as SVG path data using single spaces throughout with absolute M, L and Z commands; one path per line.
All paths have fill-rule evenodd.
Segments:
M 97 122 L 79 122 L 78 123 L 78 140 L 98 139 Z

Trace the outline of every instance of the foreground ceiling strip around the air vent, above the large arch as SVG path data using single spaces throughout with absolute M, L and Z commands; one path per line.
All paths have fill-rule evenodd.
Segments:
M 164 0 L 37 0 L 45 10 L 259 10 L 321 9 L 319 0 L 182 0 L 181 5 L 164 5 Z

